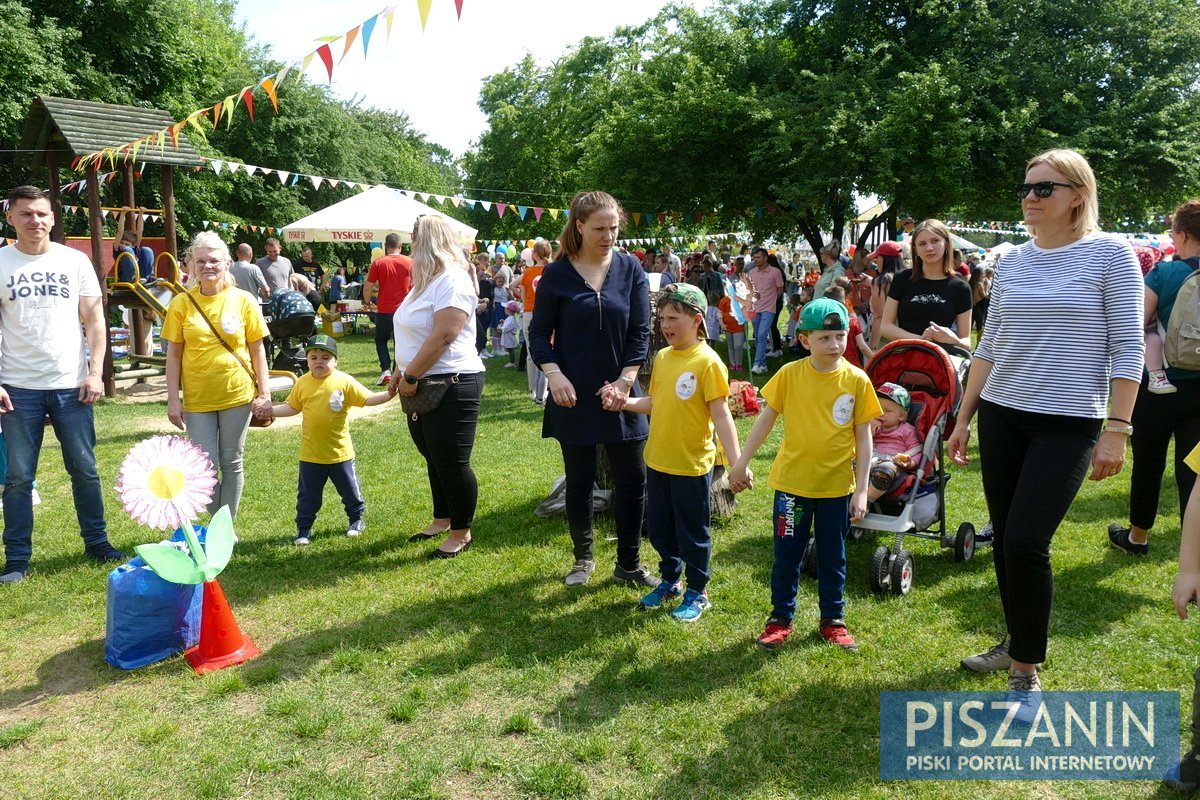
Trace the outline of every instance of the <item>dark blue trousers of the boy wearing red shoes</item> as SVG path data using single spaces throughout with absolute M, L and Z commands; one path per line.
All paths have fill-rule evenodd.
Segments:
M 799 590 L 800 563 L 815 535 L 817 597 L 822 619 L 839 619 L 846 607 L 846 534 L 850 495 L 802 498 L 775 492 L 775 564 L 770 567 L 772 616 L 792 619 Z

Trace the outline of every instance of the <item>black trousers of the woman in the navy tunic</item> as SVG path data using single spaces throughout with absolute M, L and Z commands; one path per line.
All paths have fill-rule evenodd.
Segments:
M 575 558 L 592 560 L 592 487 L 596 480 L 596 447 L 604 447 L 612 468 L 612 516 L 617 525 L 617 565 L 635 570 L 641 564 L 642 515 L 646 511 L 646 440 L 601 445 L 569 445 L 563 449 L 566 473 L 566 524 Z

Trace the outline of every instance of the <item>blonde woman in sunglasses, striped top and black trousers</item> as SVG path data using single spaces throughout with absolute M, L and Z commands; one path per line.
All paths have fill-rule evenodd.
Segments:
M 954 463 L 967 463 L 978 411 L 1007 632 L 962 667 L 1008 669 L 1009 691 L 1037 692 L 1054 597 L 1050 541 L 1088 465 L 1093 481 L 1117 475 L 1133 432 L 1142 285 L 1129 243 L 1098 230 L 1096 175 L 1084 156 L 1036 156 L 1016 192 L 1033 239 L 996 267 L 988 326 L 948 449 Z M 1063 319 L 1070 320 L 1069 345 Z

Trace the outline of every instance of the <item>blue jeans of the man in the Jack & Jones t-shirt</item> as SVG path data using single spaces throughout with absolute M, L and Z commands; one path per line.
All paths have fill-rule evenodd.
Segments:
M 10 566 L 28 566 L 34 552 L 34 479 L 42 452 L 46 416 L 62 446 L 62 464 L 71 476 L 79 536 L 84 546 L 108 541 L 104 500 L 96 473 L 96 426 L 92 408 L 79 402 L 78 389 L 18 389 L 5 386 L 12 411 L 5 414 L 4 441 L 8 476 L 4 485 L 4 547 Z

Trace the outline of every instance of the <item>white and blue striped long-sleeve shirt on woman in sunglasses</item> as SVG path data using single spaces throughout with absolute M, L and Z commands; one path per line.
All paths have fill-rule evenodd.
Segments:
M 1142 301 L 1138 259 L 1118 236 L 1019 246 L 996 267 L 976 349 L 992 363 L 982 397 L 1036 414 L 1106 416 L 1109 380 L 1141 380 Z

